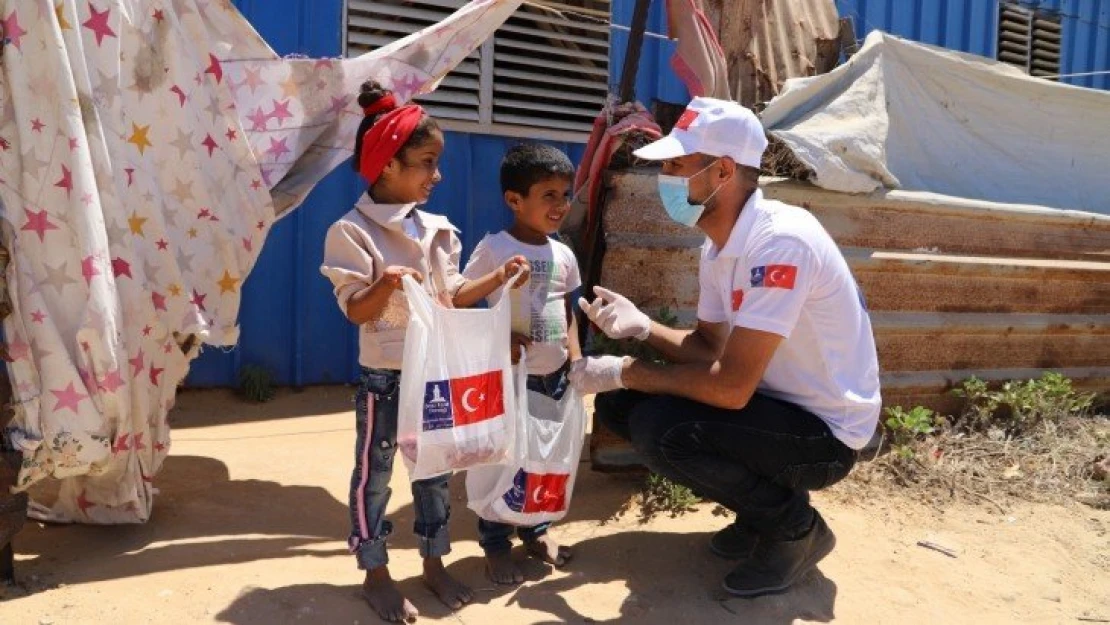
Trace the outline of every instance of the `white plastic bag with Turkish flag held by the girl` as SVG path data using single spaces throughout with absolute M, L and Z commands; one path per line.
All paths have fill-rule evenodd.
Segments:
M 411 276 L 402 282 L 410 320 L 397 445 L 410 480 L 515 456 L 508 298 L 488 310 L 447 309 Z

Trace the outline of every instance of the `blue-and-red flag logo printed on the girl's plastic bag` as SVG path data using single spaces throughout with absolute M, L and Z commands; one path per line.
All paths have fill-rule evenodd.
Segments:
M 502 372 L 437 380 L 424 385 L 424 431 L 470 425 L 505 414 Z

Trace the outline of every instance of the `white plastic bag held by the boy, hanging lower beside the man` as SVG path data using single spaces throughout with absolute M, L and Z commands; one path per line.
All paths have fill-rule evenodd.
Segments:
M 586 436 L 582 395 L 568 387 L 555 401 L 528 391 L 526 371 L 521 359 L 515 384 L 519 457 L 466 472 L 467 507 L 486 521 L 519 526 L 566 516 Z

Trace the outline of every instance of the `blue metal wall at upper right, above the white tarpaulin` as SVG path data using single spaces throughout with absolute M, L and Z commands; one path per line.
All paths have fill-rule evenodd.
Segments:
M 1061 13 L 1063 74 L 1110 70 L 1110 0 L 1026 0 Z M 856 36 L 872 30 L 995 57 L 998 46 L 998 0 L 837 0 L 841 17 L 852 17 Z M 1063 82 L 1110 89 L 1110 74 L 1076 75 Z

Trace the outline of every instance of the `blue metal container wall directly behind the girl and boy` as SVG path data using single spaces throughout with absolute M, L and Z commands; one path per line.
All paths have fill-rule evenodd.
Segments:
M 281 54 L 336 57 L 342 51 L 342 0 L 238 0 L 236 6 Z M 644 67 L 647 62 L 645 58 Z M 652 73 L 642 69 L 640 75 Z M 486 232 L 509 222 L 496 169 L 490 163 L 501 162 L 515 142 L 446 133 L 444 180 L 427 210 L 445 214 L 462 230 L 464 258 Z M 585 151 L 581 143 L 552 144 L 576 163 Z M 363 191 L 365 183 L 350 168 L 340 167 L 303 205 L 275 224 L 243 285 L 239 345 L 206 346 L 193 362 L 188 385 L 235 385 L 240 367 L 246 364 L 265 367 L 279 384 L 343 383 L 356 377 L 355 329 L 340 313 L 319 268 L 327 228 Z

